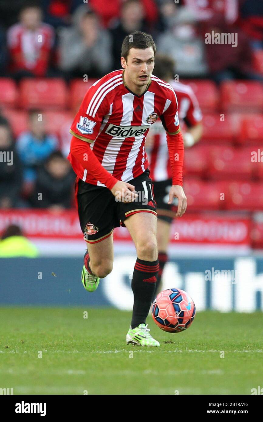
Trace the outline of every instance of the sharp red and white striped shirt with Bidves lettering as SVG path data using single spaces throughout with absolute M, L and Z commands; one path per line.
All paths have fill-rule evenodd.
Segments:
M 179 132 L 177 98 L 171 85 L 152 75 L 146 92 L 138 96 L 125 86 L 123 70 L 115 70 L 89 88 L 70 133 L 89 142 L 102 167 L 127 182 L 149 166 L 144 144 L 149 127 L 159 116 L 168 133 Z M 68 160 L 80 179 L 105 186 L 72 151 Z

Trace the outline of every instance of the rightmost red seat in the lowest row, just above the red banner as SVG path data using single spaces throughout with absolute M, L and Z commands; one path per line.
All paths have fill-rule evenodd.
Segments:
M 230 210 L 262 211 L 263 184 L 258 182 L 230 182 L 226 206 Z

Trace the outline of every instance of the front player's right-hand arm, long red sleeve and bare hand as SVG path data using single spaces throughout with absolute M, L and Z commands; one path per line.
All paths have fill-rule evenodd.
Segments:
M 174 91 L 171 95 L 171 104 L 161 116 L 161 120 L 166 131 L 168 152 L 172 170 L 173 185 L 169 192 L 168 204 L 171 204 L 174 197 L 177 197 L 178 208 L 176 217 L 182 217 L 187 207 L 187 199 L 183 189 L 184 140 L 180 130 L 177 111 L 177 98 Z

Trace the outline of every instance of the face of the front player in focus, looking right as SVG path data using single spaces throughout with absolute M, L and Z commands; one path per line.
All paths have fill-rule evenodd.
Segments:
M 155 54 L 152 47 L 147 49 L 130 49 L 127 61 L 122 57 L 125 76 L 137 87 L 148 84 L 155 67 Z

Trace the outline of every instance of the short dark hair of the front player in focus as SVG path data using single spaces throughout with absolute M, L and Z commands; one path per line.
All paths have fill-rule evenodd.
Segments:
M 122 43 L 122 57 L 127 60 L 130 49 L 142 49 L 145 50 L 152 47 L 154 54 L 156 54 L 156 45 L 153 41 L 152 35 L 146 34 L 141 31 L 134 31 L 130 35 L 127 35 Z

